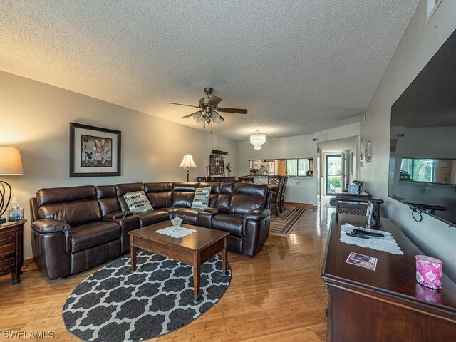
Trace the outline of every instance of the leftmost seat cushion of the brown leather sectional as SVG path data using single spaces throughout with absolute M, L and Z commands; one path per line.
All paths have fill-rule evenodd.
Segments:
M 71 252 L 120 239 L 120 226 L 112 221 L 92 222 L 71 228 Z

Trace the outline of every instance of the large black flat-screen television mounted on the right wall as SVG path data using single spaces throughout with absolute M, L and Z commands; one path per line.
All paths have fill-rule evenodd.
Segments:
M 388 195 L 456 227 L 456 31 L 391 106 Z

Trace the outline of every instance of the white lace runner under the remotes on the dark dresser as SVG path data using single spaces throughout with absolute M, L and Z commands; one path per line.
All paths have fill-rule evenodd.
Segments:
M 361 227 L 356 227 L 351 224 L 344 224 L 341 227 L 341 242 L 345 242 L 346 244 L 356 244 L 356 246 L 360 247 L 367 247 L 376 249 L 378 251 L 384 251 L 391 254 L 404 254 L 404 252 L 400 249 L 398 243 L 393 239 L 393 235 L 391 233 L 381 231 L 381 230 L 373 230 L 373 229 L 364 229 L 366 232 L 375 232 L 383 234 L 385 237 L 382 238 L 371 238 L 371 239 L 362 239 L 360 237 L 350 237 L 346 233 L 351 232 L 353 229 L 363 229 Z

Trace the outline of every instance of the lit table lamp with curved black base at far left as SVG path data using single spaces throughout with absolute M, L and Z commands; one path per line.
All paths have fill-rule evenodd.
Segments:
M 0 146 L 0 176 L 24 175 L 21 152 L 16 147 Z M 11 200 L 11 186 L 0 180 L 0 224 L 6 219 L 2 216 L 8 209 Z

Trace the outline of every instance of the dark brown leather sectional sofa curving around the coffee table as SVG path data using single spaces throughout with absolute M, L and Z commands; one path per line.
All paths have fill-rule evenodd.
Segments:
M 211 187 L 209 207 L 191 209 L 197 187 Z M 154 210 L 128 212 L 123 195 L 144 191 Z M 266 185 L 155 182 L 41 189 L 31 204 L 33 259 L 48 279 L 76 274 L 130 251 L 128 232 L 180 217 L 229 232 L 228 249 L 254 257 L 269 235 Z

